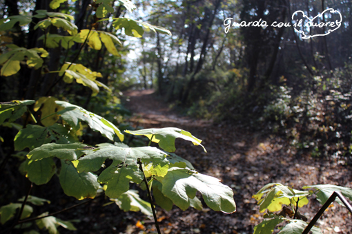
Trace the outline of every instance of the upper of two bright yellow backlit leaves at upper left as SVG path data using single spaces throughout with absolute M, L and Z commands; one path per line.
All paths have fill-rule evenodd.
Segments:
M 89 35 L 88 35 L 89 33 Z M 86 40 L 88 36 L 87 44 L 94 50 L 101 50 L 101 42 L 104 43 L 108 52 L 115 56 L 120 56 L 119 52 L 115 47 L 115 44 L 122 45 L 121 41 L 117 38 L 117 36 L 110 34 L 109 32 L 104 31 L 96 31 L 96 30 L 81 30 L 79 32 L 79 36 L 81 40 Z

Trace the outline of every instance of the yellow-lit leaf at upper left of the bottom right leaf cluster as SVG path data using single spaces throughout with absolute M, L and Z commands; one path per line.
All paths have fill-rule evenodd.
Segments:
M 264 198 L 262 198 L 263 195 Z M 266 209 L 276 212 L 282 209 L 282 204 L 289 205 L 292 201 L 295 205 L 298 199 L 300 199 L 299 207 L 308 204 L 309 200 L 306 198 L 308 195 L 308 191 L 298 191 L 280 183 L 275 183 L 266 184 L 257 194 L 253 195 L 253 198 L 258 201 L 260 212 L 264 212 Z

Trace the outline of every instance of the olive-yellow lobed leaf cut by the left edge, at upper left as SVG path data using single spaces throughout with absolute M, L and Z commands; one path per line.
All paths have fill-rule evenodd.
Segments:
M 41 56 L 39 56 L 41 53 Z M 23 47 L 14 47 L 10 52 L 0 55 L 1 76 L 11 76 L 20 70 L 20 62 L 27 60 L 28 67 L 38 69 L 43 65 L 43 59 L 48 56 L 48 52 L 43 48 L 32 48 L 27 50 Z

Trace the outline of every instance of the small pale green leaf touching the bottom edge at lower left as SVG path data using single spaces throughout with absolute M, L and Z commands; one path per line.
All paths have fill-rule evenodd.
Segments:
M 41 216 L 45 215 L 48 215 L 48 213 L 41 214 Z M 59 220 L 54 216 L 43 217 L 40 220 L 35 220 L 35 222 L 40 229 L 48 230 L 49 234 L 59 234 L 59 231 L 57 231 L 58 226 L 62 226 L 63 228 L 71 231 L 77 230 L 71 222 Z

